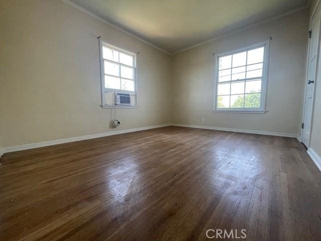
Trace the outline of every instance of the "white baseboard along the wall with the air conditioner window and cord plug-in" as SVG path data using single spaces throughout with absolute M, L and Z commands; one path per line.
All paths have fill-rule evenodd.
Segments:
M 39 147 L 47 147 L 47 146 L 53 146 L 57 144 L 77 142 L 77 141 L 89 140 L 89 139 L 94 139 L 99 137 L 108 137 L 113 135 L 119 135 L 119 134 L 130 133 L 130 132 L 138 132 L 138 131 L 144 131 L 144 130 L 149 130 L 154 128 L 168 127 L 168 126 L 171 126 L 171 125 L 164 124 L 164 125 L 157 125 L 157 126 L 150 126 L 150 127 L 140 127 L 140 128 L 134 128 L 134 129 L 127 129 L 127 130 L 110 131 L 106 133 L 99 133 L 99 134 L 93 134 L 93 135 L 87 135 L 87 136 L 81 136 L 81 137 L 71 137 L 71 138 L 59 139 L 54 141 L 38 142 L 38 143 L 13 146 L 13 147 L 5 147 L 2 150 L 0 150 L 0 153 L 17 152 L 17 151 L 23 151 L 23 150 L 34 149 Z

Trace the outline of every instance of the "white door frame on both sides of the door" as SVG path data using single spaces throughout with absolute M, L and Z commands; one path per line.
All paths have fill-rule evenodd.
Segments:
M 316 15 L 317 12 L 321 12 L 321 7 L 319 8 L 319 3 L 320 0 L 317 1 L 312 15 L 309 19 L 309 29 L 311 30 L 311 25 L 312 25 L 312 19 Z M 312 93 L 312 111 L 311 111 L 311 124 L 310 124 L 310 136 L 309 136 L 309 141 L 308 145 L 306 148 L 309 148 L 310 146 L 310 140 L 311 140 L 311 130 L 312 130 L 312 123 L 313 123 L 313 113 L 314 113 L 314 96 L 315 96 L 315 83 L 317 79 L 317 72 L 318 72 L 318 62 L 319 62 L 319 55 L 320 55 L 320 36 L 321 36 L 321 17 L 320 17 L 320 25 L 319 25 L 319 34 L 318 34 L 318 39 L 317 39 L 317 48 L 316 48 L 316 63 L 315 63 L 315 77 L 314 77 L 314 87 L 313 87 L 313 93 Z M 305 117 L 305 97 L 306 97 L 306 86 L 307 86 L 307 81 L 308 81 L 308 67 L 309 67 L 309 53 L 310 53 L 310 48 L 311 48 L 311 39 L 309 39 L 308 42 L 308 48 L 307 48 L 307 58 L 306 58 L 306 70 L 305 70 L 305 81 L 304 81 L 304 96 L 303 96 L 303 108 L 302 108 L 302 118 L 301 118 L 301 123 L 304 123 L 304 117 Z M 300 142 L 302 143 L 303 141 L 303 129 L 301 129 L 301 136 L 300 136 Z

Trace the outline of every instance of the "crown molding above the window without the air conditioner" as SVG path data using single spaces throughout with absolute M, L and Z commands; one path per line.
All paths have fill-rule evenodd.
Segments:
M 265 24 L 265 23 L 267 23 L 267 22 L 270 22 L 270 21 L 273 21 L 273 20 L 276 20 L 276 19 L 285 17 L 285 16 L 287 16 L 287 15 L 297 13 L 297 12 L 299 12 L 299 11 L 302 11 L 302 10 L 304 10 L 304 9 L 307 9 L 308 6 L 309 6 L 309 5 L 306 5 L 306 6 L 303 6 L 303 7 L 300 7 L 300 8 L 296 8 L 296 9 L 293 9 L 293 10 L 291 10 L 291 11 L 285 12 L 285 13 L 283 13 L 283 14 L 280 14 L 280 15 L 277 15 L 277 16 L 274 16 L 274 17 L 271 17 L 271 18 L 268 18 L 268 19 L 259 21 L 259 22 L 255 23 L 255 24 L 248 25 L 248 26 L 246 26 L 246 27 L 244 27 L 244 28 L 241 28 L 241 29 L 238 29 L 238 30 L 235 30 L 235 31 L 232 31 L 232 32 L 230 32 L 230 33 L 227 33 L 227 34 L 224 34 L 224 35 L 221 35 L 221 36 L 217 36 L 217 37 L 215 37 L 215 38 L 212 38 L 212 39 L 203 41 L 203 42 L 198 43 L 198 44 L 194 44 L 194 45 L 192 45 L 192 46 L 190 46 L 190 47 L 186 47 L 186 48 L 184 48 L 184 49 L 175 51 L 175 52 L 171 53 L 170 55 L 178 54 L 178 53 L 184 52 L 184 51 L 186 51 L 186 50 L 193 49 L 193 48 L 196 48 L 196 47 L 198 47 L 198 46 L 201 46 L 201 45 L 210 43 L 210 42 L 212 42 L 212 41 L 225 38 L 225 37 L 227 37 L 227 36 L 229 36 L 229 35 L 232 35 L 232 34 L 235 34 L 235 33 L 238 33 L 238 32 L 244 31 L 244 30 L 247 30 L 247 29 L 251 29 L 251 28 L 257 27 L 257 26 L 259 26 L 259 25 Z

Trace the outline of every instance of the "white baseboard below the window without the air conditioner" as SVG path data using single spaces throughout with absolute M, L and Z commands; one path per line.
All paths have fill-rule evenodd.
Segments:
M 278 137 L 298 138 L 297 134 L 292 134 L 292 133 L 266 132 L 266 131 L 255 131 L 255 130 L 224 128 L 224 127 L 206 127 L 206 126 L 195 126 L 195 125 L 185 125 L 185 124 L 171 124 L 171 126 L 190 127 L 190 128 L 199 128 L 199 129 L 209 129 L 209 130 L 226 131 L 226 132 L 241 132 L 241 133 L 259 134 L 259 135 L 268 135 L 268 136 L 278 136 Z

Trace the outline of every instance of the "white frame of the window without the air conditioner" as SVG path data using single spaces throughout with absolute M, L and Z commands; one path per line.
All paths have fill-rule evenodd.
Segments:
M 214 109 L 213 112 L 224 112 L 224 113 L 265 113 L 266 112 L 266 91 L 267 91 L 267 79 L 268 79 L 268 60 L 269 60 L 269 43 L 270 41 L 263 41 L 256 44 L 252 44 L 246 47 L 242 47 L 239 49 L 235 49 L 232 51 L 227 51 L 219 54 L 215 54 L 215 87 L 214 87 Z M 251 49 L 256 49 L 259 47 L 264 47 L 264 57 L 263 57 L 263 69 L 262 69 L 262 82 L 261 82 L 261 99 L 260 99 L 260 107 L 258 108 L 217 108 L 217 90 L 218 90 L 218 84 L 219 84 L 219 58 L 241 53 L 244 51 L 249 51 Z M 257 79 L 253 78 L 253 79 Z M 245 81 L 247 79 L 244 79 Z M 240 80 L 232 80 L 227 81 L 230 83 L 233 82 L 239 82 Z M 222 83 L 222 82 L 220 82 Z

